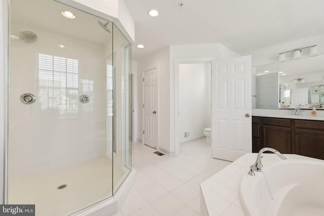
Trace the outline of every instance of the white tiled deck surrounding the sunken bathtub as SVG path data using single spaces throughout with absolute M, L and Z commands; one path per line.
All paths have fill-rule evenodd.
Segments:
M 288 159 L 309 159 L 296 154 L 284 155 Z M 248 173 L 257 156 L 257 153 L 247 153 L 200 184 L 201 215 L 245 216 L 238 197 L 238 187 L 242 176 Z M 275 154 L 263 153 L 262 156 L 262 161 L 277 158 Z

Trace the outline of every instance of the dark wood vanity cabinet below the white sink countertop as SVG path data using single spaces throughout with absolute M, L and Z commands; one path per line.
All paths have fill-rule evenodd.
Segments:
M 252 116 L 252 152 L 264 147 L 324 159 L 324 121 Z

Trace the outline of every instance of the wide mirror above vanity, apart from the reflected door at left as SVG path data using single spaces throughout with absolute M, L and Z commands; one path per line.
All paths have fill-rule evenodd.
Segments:
M 256 66 L 257 77 L 270 73 L 278 74 L 278 108 L 324 107 L 324 54 Z

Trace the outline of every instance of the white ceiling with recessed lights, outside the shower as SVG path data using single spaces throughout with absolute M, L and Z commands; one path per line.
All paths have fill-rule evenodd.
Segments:
M 133 47 L 133 60 L 170 45 L 214 42 L 247 54 L 324 33 L 323 0 L 125 1 L 135 20 L 135 45 L 145 46 Z M 159 16 L 148 16 L 152 8 Z

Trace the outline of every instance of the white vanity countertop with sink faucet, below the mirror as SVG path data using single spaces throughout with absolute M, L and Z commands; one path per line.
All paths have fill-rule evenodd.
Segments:
M 252 109 L 252 116 L 324 121 L 324 110 L 316 110 L 316 116 L 313 116 L 311 110 L 302 109 L 302 114 L 292 115 L 292 109 Z

